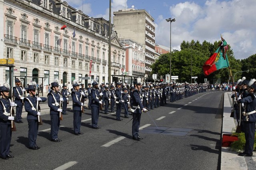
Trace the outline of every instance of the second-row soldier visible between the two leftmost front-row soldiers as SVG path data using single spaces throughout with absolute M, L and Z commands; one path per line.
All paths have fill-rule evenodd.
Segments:
M 16 86 L 13 87 L 13 93 L 14 93 L 14 103 L 17 104 L 17 107 L 16 107 L 16 120 L 15 122 L 16 123 L 23 123 L 21 121 L 22 117 L 21 117 L 21 114 L 22 114 L 22 103 L 23 103 L 23 100 L 24 100 L 24 91 L 26 91 L 22 86 L 21 86 L 21 81 L 20 79 L 15 79 L 15 84 Z

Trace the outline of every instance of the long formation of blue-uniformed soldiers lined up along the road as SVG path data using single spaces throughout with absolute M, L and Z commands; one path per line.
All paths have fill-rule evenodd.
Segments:
M 21 86 L 20 79 L 15 79 L 16 86 L 13 87 L 13 96 L 9 99 L 10 85 L 4 83 L 0 87 L 1 103 L 0 103 L 0 158 L 9 159 L 14 156 L 10 155 L 10 142 L 12 131 L 16 131 L 15 123 L 23 123 L 21 121 L 22 107 L 28 113 L 28 148 L 38 150 L 40 147 L 36 143 L 38 134 L 38 126 L 42 125 L 40 117 L 40 102 L 45 102 L 45 97 L 39 97 L 36 94 L 36 83 L 32 82 L 27 88 Z M 81 86 L 81 88 L 80 88 Z M 170 102 L 174 102 L 185 97 L 189 97 L 196 93 L 206 91 L 206 84 L 188 84 L 188 83 L 141 83 L 140 79 L 134 81 L 132 85 L 123 84 L 122 82 L 106 85 L 104 83 L 99 87 L 97 82 L 88 83 L 88 89 L 84 88 L 84 84 L 78 84 L 73 81 L 71 93 L 67 89 L 66 83 L 60 91 L 57 81 L 51 83 L 51 90 L 48 93 L 48 107 L 50 108 L 51 119 L 51 140 L 52 142 L 61 142 L 58 137 L 60 121 L 63 120 L 62 115 L 67 115 L 66 109 L 68 98 L 72 97 L 73 125 L 74 134 L 84 134 L 80 131 L 81 117 L 84 113 L 84 103 L 86 98 L 89 99 L 88 109 L 92 113 L 92 128 L 100 129 L 98 119 L 100 110 L 105 114 L 116 112 L 116 120 L 122 121 L 121 113 L 124 109 L 124 118 L 129 118 L 129 112 L 132 114 L 132 139 L 142 140 L 139 136 L 140 118 L 143 112 L 150 109 L 156 109 L 164 106 L 166 100 L 170 98 Z M 27 93 L 25 95 L 24 93 Z M 115 107 L 116 105 L 116 107 Z M 16 107 L 16 119 L 14 119 L 14 109 Z M 116 111 L 115 111 L 116 110 Z

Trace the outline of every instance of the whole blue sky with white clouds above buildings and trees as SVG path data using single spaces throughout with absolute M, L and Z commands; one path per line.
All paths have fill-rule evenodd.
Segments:
M 108 20 L 109 0 L 66 0 L 84 14 Z M 82 6 L 83 4 L 83 6 Z M 124 8 L 145 9 L 155 19 L 156 43 L 180 49 L 185 40 L 220 40 L 220 34 L 231 45 L 236 59 L 256 53 L 256 0 L 112 0 L 112 12 Z

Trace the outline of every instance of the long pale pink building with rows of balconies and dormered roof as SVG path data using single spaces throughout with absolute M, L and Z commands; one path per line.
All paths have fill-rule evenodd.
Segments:
M 108 23 L 89 17 L 61 0 L 0 0 L 0 58 L 13 58 L 13 77 L 72 86 L 108 81 Z M 60 30 L 66 25 L 65 30 Z M 125 69 L 125 47 L 112 33 L 111 74 Z M 91 76 L 90 76 L 91 62 Z M 9 68 L 0 67 L 0 84 Z M 84 77 L 88 77 L 85 80 Z

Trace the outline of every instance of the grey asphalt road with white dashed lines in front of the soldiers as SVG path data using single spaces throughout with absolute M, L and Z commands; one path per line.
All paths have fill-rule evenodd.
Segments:
M 185 131 L 189 132 L 184 136 L 166 135 L 164 132 L 142 133 L 144 128 L 140 130 L 140 136 L 144 139 L 132 140 L 132 121 L 127 123 L 130 119 L 124 118 L 124 110 L 121 114 L 123 121 L 116 121 L 115 115 L 100 113 L 98 125 L 101 129 L 98 130 L 91 128 L 91 120 L 88 120 L 91 111 L 86 110 L 86 114 L 82 114 L 81 131 L 84 134 L 80 136 L 73 134 L 72 112 L 63 115 L 58 133 L 62 142 L 50 141 L 50 115 L 42 115 L 44 125 L 39 126 L 42 131 L 38 132 L 37 138 L 41 148 L 30 150 L 27 148 L 28 123 L 24 117 L 24 123 L 16 123 L 17 131 L 12 133 L 10 154 L 14 158 L 0 160 L 0 167 L 20 170 L 58 167 L 69 167 L 70 170 L 220 169 L 223 94 L 221 91 L 207 91 L 175 103 L 168 102 L 165 106 L 150 110 L 149 115 L 143 113 L 140 127 L 186 128 Z M 108 147 L 105 147 L 106 144 Z

